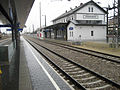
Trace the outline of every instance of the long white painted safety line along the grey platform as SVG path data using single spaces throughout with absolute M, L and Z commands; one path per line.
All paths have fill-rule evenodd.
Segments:
M 28 46 L 29 47 L 29 46 Z M 30 48 L 30 47 L 29 47 Z M 59 86 L 57 85 L 57 83 L 53 80 L 53 78 L 50 76 L 50 74 L 47 72 L 47 70 L 45 69 L 45 67 L 42 65 L 42 63 L 38 60 L 38 58 L 36 57 L 36 55 L 33 53 L 33 51 L 30 48 L 30 51 L 32 52 L 33 56 L 35 57 L 36 61 L 38 62 L 38 64 L 42 67 L 42 69 L 44 70 L 44 72 L 46 73 L 46 75 L 48 76 L 48 78 L 50 79 L 50 81 L 52 82 L 52 84 L 54 85 L 54 87 L 56 88 L 56 90 L 60 90 Z

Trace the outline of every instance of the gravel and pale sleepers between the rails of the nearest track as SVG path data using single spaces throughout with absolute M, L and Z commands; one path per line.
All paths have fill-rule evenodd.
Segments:
M 33 42 L 32 42 L 33 43 Z M 91 79 L 91 80 L 89 80 L 89 82 L 88 82 L 88 80 L 86 81 L 84 81 L 84 80 L 81 80 L 81 79 L 83 79 L 83 78 L 87 78 L 87 77 L 90 77 L 92 74 L 91 73 L 88 73 L 88 72 L 86 72 L 86 71 L 84 71 L 84 72 L 81 72 L 81 71 L 83 71 L 82 69 L 80 70 L 80 68 L 78 67 L 78 66 L 74 66 L 74 64 L 72 64 L 72 63 L 70 63 L 70 62 L 67 62 L 67 61 L 65 61 L 64 59 L 61 59 L 60 57 L 58 57 L 58 56 L 56 56 L 56 55 L 54 55 L 53 53 L 51 53 L 51 52 L 49 52 L 48 50 L 46 50 L 46 49 L 44 49 L 44 48 L 42 48 L 41 46 L 39 46 L 39 45 L 36 45 L 36 44 L 34 44 L 33 43 L 33 45 L 38 49 L 38 50 L 40 50 L 40 51 L 42 51 L 42 52 L 44 52 L 44 54 L 46 54 L 49 58 L 51 58 L 52 59 L 52 61 L 54 62 L 54 63 L 56 63 L 59 67 L 61 67 L 61 68 L 63 68 L 63 70 L 64 71 L 66 71 L 70 76 L 72 76 L 72 77 L 74 77 L 74 79 L 75 78 L 79 78 L 79 80 L 77 80 L 80 84 L 82 84 L 87 90 L 91 90 L 91 89 L 96 89 L 96 88 L 99 88 L 100 90 L 118 90 L 118 88 L 116 88 L 116 87 L 114 87 L 114 86 L 111 86 L 111 85 L 109 85 L 108 83 L 106 83 L 105 81 L 103 81 L 103 80 L 101 80 L 101 79 L 99 79 L 98 77 L 96 77 L 96 76 L 94 76 L 94 77 L 96 77 L 96 79 L 94 78 L 94 79 Z M 79 70 L 78 70 L 78 68 L 79 68 Z M 74 69 L 76 69 L 77 71 L 78 71 L 78 73 L 80 73 L 80 74 L 74 74 L 73 72 L 74 72 Z M 68 71 L 69 70 L 69 71 Z M 71 71 L 72 70 L 72 71 Z M 76 70 L 75 70 L 75 72 L 76 72 Z M 85 75 L 84 76 L 84 74 L 87 74 L 88 73 L 88 75 Z M 81 75 L 82 74 L 82 75 Z M 61 74 L 60 74 L 61 75 Z M 78 75 L 80 75 L 80 76 L 78 76 Z M 92 75 L 93 76 L 93 75 Z M 81 78 L 81 79 L 80 79 Z M 67 80 L 68 82 L 69 82 L 69 84 L 71 83 L 69 80 Z M 97 81 L 97 82 L 96 82 Z M 98 82 L 99 81 L 99 82 Z M 95 84 L 92 84 L 92 82 L 94 82 Z M 71 85 L 72 85 L 72 83 L 71 83 Z M 80 89 L 78 89 L 77 87 L 75 87 L 75 85 L 73 85 L 73 87 L 75 88 L 75 90 L 80 90 Z

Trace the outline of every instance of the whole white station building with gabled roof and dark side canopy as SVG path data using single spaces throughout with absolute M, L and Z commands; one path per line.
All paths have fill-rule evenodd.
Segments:
M 53 25 L 44 29 L 47 38 L 80 40 L 106 40 L 107 12 L 93 0 L 53 20 Z

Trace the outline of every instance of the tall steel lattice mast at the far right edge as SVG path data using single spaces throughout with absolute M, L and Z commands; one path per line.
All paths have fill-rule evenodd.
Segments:
M 120 0 L 114 0 L 113 7 L 110 8 L 109 10 L 113 10 L 113 16 L 111 16 L 111 17 L 113 17 L 112 24 L 110 27 L 112 29 L 112 31 L 111 31 L 111 34 L 112 34 L 111 46 L 114 48 L 118 48 L 119 47 L 119 39 L 120 39 Z

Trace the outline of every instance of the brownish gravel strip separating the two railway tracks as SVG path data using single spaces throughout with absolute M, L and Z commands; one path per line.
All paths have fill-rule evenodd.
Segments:
M 33 38 L 29 37 L 29 39 L 33 39 Z M 38 41 L 36 39 L 33 39 L 33 40 L 59 53 L 60 55 L 63 55 L 66 58 L 72 59 L 75 62 L 80 63 L 81 65 L 84 65 L 85 67 L 88 67 L 89 69 L 95 72 L 98 72 L 99 74 L 104 75 L 107 78 L 110 78 L 111 80 L 120 84 L 120 65 L 119 64 L 112 63 L 109 61 L 106 62 L 105 60 L 99 60 L 99 58 L 78 53 L 78 52 L 65 49 L 59 46 L 47 44 L 45 42 Z

